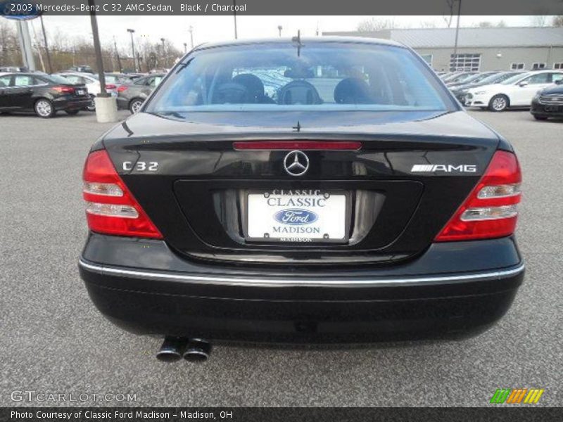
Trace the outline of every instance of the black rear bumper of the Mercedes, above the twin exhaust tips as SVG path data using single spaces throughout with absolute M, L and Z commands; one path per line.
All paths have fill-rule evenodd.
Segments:
M 128 331 L 282 343 L 469 335 L 505 314 L 524 278 L 512 238 L 434 244 L 387 269 L 305 273 L 194 264 L 164 242 L 94 234 L 79 267 L 96 307 Z

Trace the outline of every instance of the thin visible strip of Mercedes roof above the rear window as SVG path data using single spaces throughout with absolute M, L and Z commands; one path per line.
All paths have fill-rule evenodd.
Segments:
M 260 38 L 260 39 L 236 39 L 231 41 L 220 41 L 220 42 L 210 42 L 204 43 L 196 46 L 194 51 L 212 49 L 215 47 L 227 47 L 227 46 L 246 46 L 253 44 L 291 44 L 293 41 L 291 38 Z M 350 43 L 350 44 L 374 44 L 374 45 L 384 45 L 384 46 L 396 46 L 405 48 L 404 44 L 400 44 L 397 41 L 391 41 L 390 39 L 381 38 L 366 38 L 366 37 L 301 37 L 301 43 L 303 45 L 307 44 L 333 44 L 333 43 Z

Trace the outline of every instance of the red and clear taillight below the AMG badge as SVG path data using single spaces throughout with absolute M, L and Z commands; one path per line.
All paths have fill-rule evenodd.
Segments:
M 477 186 L 435 241 L 499 238 L 514 233 L 521 179 L 516 155 L 497 151 Z

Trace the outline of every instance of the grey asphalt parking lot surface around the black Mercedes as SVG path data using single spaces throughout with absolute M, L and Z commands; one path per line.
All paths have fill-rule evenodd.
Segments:
M 561 405 L 563 122 L 472 115 L 512 141 L 524 172 L 526 280 L 498 325 L 449 342 L 217 346 L 199 365 L 158 362 L 160 340 L 115 328 L 79 278 L 82 164 L 112 124 L 0 115 L 0 406 L 487 406 L 496 388 L 544 388 L 538 405 Z M 19 390 L 76 401 L 13 401 Z M 91 398 L 106 393 L 136 401 Z

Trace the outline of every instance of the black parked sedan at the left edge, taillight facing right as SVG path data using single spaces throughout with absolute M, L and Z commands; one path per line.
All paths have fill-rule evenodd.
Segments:
M 70 115 L 88 106 L 84 85 L 42 73 L 0 73 L 0 111 L 34 111 L 39 117 L 53 117 L 59 110 Z

